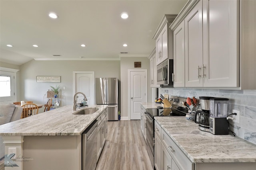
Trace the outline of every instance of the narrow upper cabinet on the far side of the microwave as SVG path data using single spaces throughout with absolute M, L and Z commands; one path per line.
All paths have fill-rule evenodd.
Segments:
M 157 88 L 160 85 L 157 84 L 157 71 L 156 71 L 156 48 L 148 56 L 150 59 L 150 87 Z

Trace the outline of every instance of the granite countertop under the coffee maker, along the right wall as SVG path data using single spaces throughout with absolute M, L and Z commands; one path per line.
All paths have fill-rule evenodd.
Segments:
M 200 131 L 185 117 L 154 117 L 192 162 L 256 162 L 256 145 L 233 135 Z

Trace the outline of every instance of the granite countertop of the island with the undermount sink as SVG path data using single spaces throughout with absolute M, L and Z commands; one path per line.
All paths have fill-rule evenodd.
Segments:
M 38 113 L 17 121 L 0 125 L 4 136 L 59 136 L 80 135 L 100 115 L 107 105 L 91 105 L 98 111 L 90 115 L 73 115 L 73 106 Z M 76 109 L 79 110 L 79 109 Z

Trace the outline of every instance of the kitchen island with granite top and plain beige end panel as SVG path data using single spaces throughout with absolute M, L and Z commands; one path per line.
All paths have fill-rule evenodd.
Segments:
M 107 108 L 88 107 L 96 107 L 98 111 L 73 115 L 72 106 L 63 106 L 1 125 L 5 154 L 8 148 L 17 149 L 18 167 L 5 167 L 5 170 L 81 170 L 82 133 Z

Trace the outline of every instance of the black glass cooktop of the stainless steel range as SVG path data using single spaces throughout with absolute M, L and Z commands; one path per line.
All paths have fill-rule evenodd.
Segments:
M 186 113 L 188 113 L 188 109 L 183 107 L 155 108 L 155 109 L 146 109 L 146 112 L 152 118 L 154 116 L 186 116 Z

